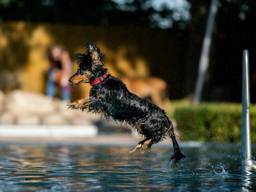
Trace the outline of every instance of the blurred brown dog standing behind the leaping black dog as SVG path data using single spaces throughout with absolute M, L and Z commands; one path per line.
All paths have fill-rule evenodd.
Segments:
M 167 83 L 158 77 L 121 77 L 128 90 L 141 98 L 148 98 L 160 108 L 168 98 Z

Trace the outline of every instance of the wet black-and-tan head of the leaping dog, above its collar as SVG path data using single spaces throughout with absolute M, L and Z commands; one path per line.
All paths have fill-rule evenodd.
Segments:
M 68 80 L 72 84 L 92 83 L 100 73 L 104 65 L 104 54 L 100 53 L 100 48 L 94 43 L 85 44 L 87 50 L 85 53 L 76 53 L 77 72 Z

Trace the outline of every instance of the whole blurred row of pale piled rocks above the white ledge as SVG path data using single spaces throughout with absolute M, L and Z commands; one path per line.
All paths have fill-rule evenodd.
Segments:
M 14 90 L 5 95 L 0 91 L 0 124 L 85 125 L 99 119 L 95 114 L 68 109 L 66 102 L 40 93 Z

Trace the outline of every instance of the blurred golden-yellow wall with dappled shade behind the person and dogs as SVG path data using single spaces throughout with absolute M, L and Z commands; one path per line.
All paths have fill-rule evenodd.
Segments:
M 60 44 L 73 59 L 75 53 L 85 52 L 85 42 L 92 41 L 106 54 L 105 66 L 111 74 L 119 77 L 159 76 L 171 90 L 175 90 L 170 92 L 171 98 L 181 94 L 186 42 L 183 30 L 134 30 L 124 26 L 116 29 L 18 21 L 1 23 L 0 36 L 1 89 L 6 92 L 21 88 L 44 93 L 49 69 L 47 47 L 52 43 Z M 77 65 L 73 61 L 75 72 Z M 80 97 L 81 93 L 88 95 L 90 85 L 72 88 Z

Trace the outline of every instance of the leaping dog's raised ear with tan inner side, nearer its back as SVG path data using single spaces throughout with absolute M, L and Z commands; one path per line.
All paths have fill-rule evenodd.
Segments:
M 101 67 L 104 65 L 103 59 L 104 59 L 104 54 L 100 53 L 100 48 L 97 47 L 94 43 L 86 43 L 85 44 L 87 51 L 86 54 L 91 55 L 92 57 L 92 67 Z

